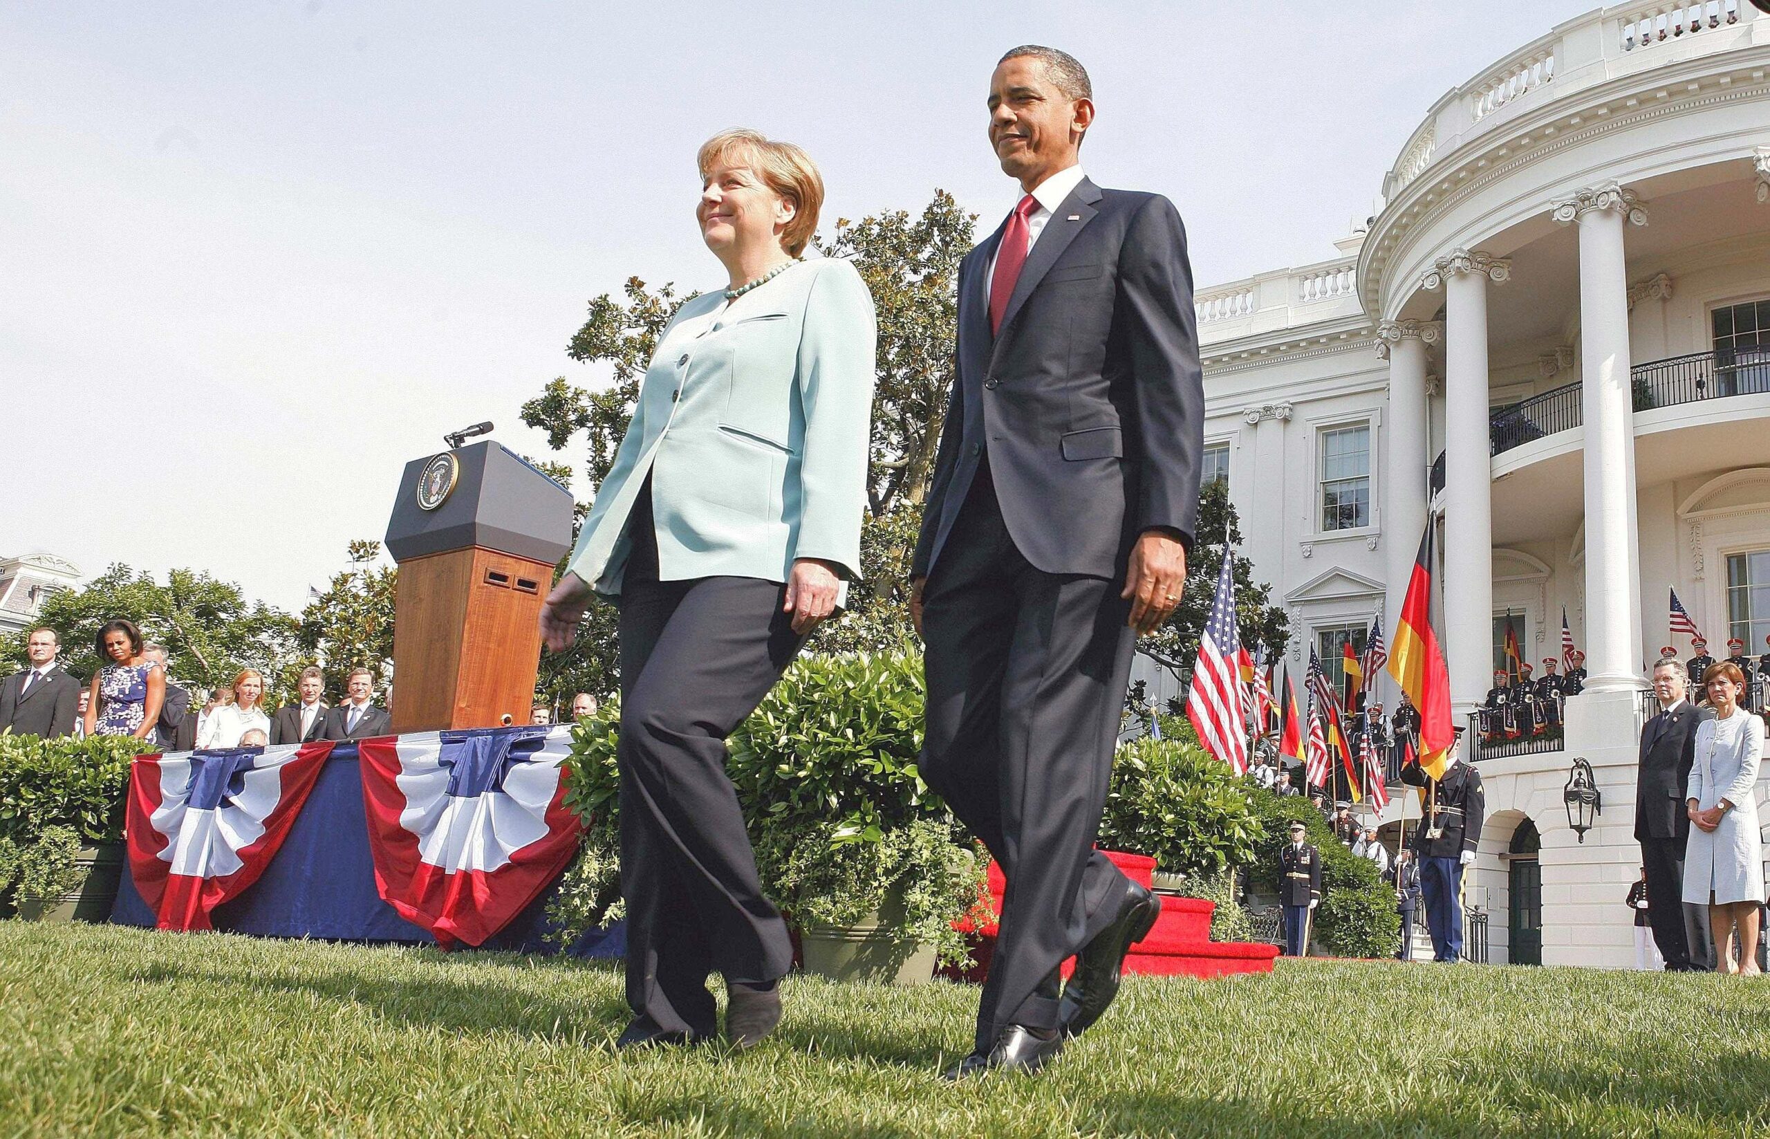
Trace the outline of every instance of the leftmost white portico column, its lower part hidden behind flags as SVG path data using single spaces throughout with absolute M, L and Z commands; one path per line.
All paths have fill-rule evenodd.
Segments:
M 1395 629 L 1414 572 L 1414 556 L 1427 528 L 1432 496 L 1432 452 L 1427 420 L 1427 345 L 1437 344 L 1444 326 L 1428 321 L 1384 321 L 1377 326 L 1377 356 L 1389 361 L 1389 413 L 1384 418 L 1389 457 L 1382 498 L 1382 540 L 1388 549 L 1384 636 Z

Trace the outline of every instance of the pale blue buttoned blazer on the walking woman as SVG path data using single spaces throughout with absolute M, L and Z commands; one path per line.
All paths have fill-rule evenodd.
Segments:
M 696 335 L 696 317 L 722 301 L 694 298 L 658 337 L 566 567 L 598 593 L 621 592 L 627 519 L 646 475 L 664 581 L 786 581 L 795 558 L 860 576 L 873 294 L 846 260 L 807 260 Z

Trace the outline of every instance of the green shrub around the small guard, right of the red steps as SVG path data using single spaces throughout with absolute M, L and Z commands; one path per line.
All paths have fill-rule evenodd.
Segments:
M 1395 912 L 1395 891 L 1377 875 L 1377 866 L 1343 847 L 1308 799 L 1274 795 L 1258 786 L 1251 795 L 1262 825 L 1250 870 L 1253 884 L 1276 893 L 1280 848 L 1290 841 L 1290 824 L 1301 820 L 1308 827 L 1308 841 L 1322 854 L 1315 941 L 1340 957 L 1393 957 L 1400 946 L 1402 919 Z

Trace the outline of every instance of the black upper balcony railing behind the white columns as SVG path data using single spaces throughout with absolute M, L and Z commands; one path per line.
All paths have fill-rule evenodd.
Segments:
M 1770 393 L 1770 345 L 1653 360 L 1635 365 L 1630 372 L 1630 383 L 1635 411 L 1676 407 L 1729 395 Z M 1517 404 L 1496 407 L 1489 416 L 1492 453 L 1504 453 L 1513 446 L 1572 430 L 1581 423 L 1584 418 L 1579 384 L 1566 384 Z

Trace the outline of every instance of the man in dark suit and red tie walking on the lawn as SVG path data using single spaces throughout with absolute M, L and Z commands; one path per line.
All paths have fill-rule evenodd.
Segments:
M 922 776 L 1007 877 L 975 1052 L 949 1077 L 1044 1065 L 1106 1010 L 1161 912 L 1092 843 L 1133 641 L 1186 581 L 1204 388 L 1181 218 L 1081 174 L 1092 120 L 1073 57 L 1027 46 L 997 66 L 989 142 L 1025 197 L 959 267 L 912 569 Z

